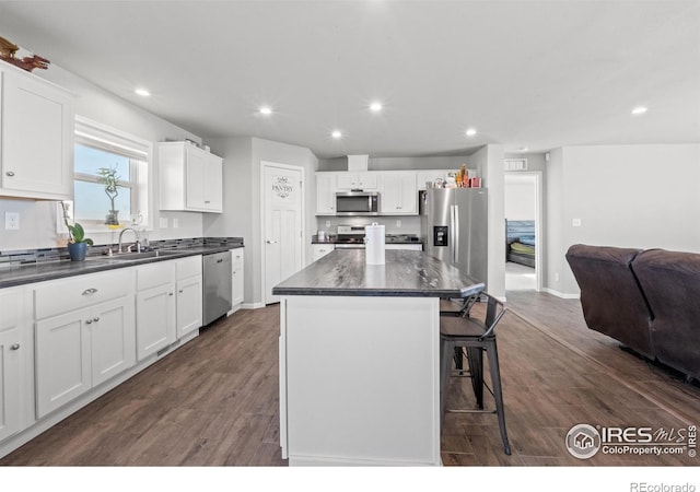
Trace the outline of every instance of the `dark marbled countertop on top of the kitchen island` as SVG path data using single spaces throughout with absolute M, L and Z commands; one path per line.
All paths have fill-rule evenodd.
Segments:
M 366 265 L 363 249 L 336 249 L 276 285 L 272 294 L 466 297 L 485 288 L 423 251 L 385 253 L 385 265 Z

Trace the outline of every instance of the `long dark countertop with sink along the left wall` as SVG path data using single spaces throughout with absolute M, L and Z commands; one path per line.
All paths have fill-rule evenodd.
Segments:
M 133 267 L 136 265 L 151 263 L 176 258 L 184 258 L 192 255 L 207 255 L 211 253 L 226 251 L 243 247 L 241 244 L 229 245 L 198 245 L 194 247 L 159 249 L 158 256 L 144 255 L 140 258 L 125 255 L 119 257 L 88 256 L 84 261 L 70 261 L 62 259 L 58 261 L 37 261 L 24 265 L 3 266 L 0 268 L 0 289 L 23 285 L 26 283 L 43 282 L 45 280 L 56 280 L 66 277 L 83 276 L 98 271 L 114 270 L 117 268 Z M 149 254 L 155 254 L 149 251 Z

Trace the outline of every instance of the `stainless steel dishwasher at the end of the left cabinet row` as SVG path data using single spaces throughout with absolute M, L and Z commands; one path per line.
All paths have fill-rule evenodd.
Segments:
M 202 256 L 203 324 L 209 325 L 231 311 L 231 251 Z

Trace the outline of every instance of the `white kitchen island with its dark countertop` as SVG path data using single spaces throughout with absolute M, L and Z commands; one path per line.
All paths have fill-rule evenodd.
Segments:
M 439 466 L 440 298 L 483 284 L 422 251 L 323 257 L 280 295 L 280 443 L 295 465 Z

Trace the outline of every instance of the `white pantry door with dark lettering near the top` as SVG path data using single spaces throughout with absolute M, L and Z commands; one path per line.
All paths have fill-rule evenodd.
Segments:
M 265 304 L 276 303 L 272 288 L 303 267 L 303 171 L 262 164 Z

